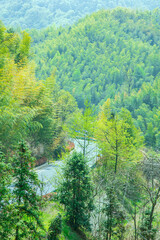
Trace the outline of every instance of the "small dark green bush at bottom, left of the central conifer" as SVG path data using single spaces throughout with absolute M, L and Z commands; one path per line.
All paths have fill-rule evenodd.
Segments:
M 58 239 L 58 235 L 62 232 L 62 218 L 60 214 L 53 219 L 48 232 L 48 240 Z

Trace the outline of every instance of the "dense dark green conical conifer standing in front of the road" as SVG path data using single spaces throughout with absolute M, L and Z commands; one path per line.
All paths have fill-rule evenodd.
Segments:
M 68 222 L 75 230 L 82 226 L 89 229 L 93 209 L 92 185 L 87 163 L 81 153 L 74 152 L 68 158 L 63 177 L 58 196 L 65 206 Z

